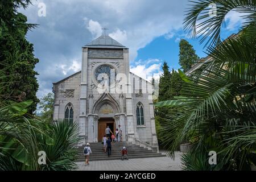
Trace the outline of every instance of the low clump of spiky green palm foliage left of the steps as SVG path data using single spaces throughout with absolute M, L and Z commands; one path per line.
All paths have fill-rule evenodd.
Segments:
M 1 70 L 0 77 L 6 77 Z M 0 91 L 3 85 L 0 82 Z M 78 125 L 31 117 L 27 114 L 31 104 L 0 102 L 0 171 L 75 169 Z M 46 152 L 46 165 L 39 165 L 39 151 Z

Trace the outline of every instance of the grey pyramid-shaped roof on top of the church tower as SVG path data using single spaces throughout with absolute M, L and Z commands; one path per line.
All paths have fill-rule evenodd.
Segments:
M 93 40 L 92 42 L 86 44 L 84 47 L 88 48 L 126 48 L 117 40 L 112 39 L 109 35 L 101 35 L 97 39 Z

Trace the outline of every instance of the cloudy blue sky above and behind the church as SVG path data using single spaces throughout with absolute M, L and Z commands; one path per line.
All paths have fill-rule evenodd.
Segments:
M 82 46 L 102 35 L 106 27 L 112 38 L 129 48 L 130 71 L 146 78 L 162 74 L 164 61 L 179 69 L 179 41 L 186 39 L 199 57 L 204 44 L 183 30 L 187 0 L 32 0 L 26 10 L 28 23 L 38 24 L 27 39 L 34 44 L 39 63 L 41 98 L 52 92 L 52 83 L 81 70 Z M 237 33 L 242 18 L 230 12 L 225 17 L 222 38 Z

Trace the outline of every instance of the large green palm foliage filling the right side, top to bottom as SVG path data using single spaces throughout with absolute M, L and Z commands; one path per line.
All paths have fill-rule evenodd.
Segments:
M 205 16 L 209 3 L 216 3 L 217 16 Z M 187 77 L 174 100 L 158 107 L 179 110 L 166 120 L 161 132 L 168 154 L 183 140 L 192 150 L 182 158 L 186 170 L 250 170 L 256 164 L 256 13 L 255 1 L 202 0 L 193 2 L 185 28 L 207 40 L 211 61 Z M 220 39 L 221 25 L 230 11 L 246 13 L 240 34 Z M 200 25 L 198 26 L 198 20 Z M 195 30 L 200 29 L 200 32 Z M 217 165 L 209 166 L 205 155 L 217 152 Z

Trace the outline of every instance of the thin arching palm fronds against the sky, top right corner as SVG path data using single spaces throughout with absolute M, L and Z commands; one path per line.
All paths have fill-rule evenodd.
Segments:
M 185 14 L 184 28 L 193 38 L 200 38 L 200 43 L 207 41 L 205 47 L 208 45 L 215 47 L 221 42 L 221 27 L 225 24 L 225 16 L 230 11 L 234 10 L 243 14 L 243 18 L 247 20 L 245 27 L 255 18 L 255 1 L 200 0 L 190 2 L 192 5 Z M 216 15 L 209 15 L 212 11 L 209 5 L 216 6 Z

